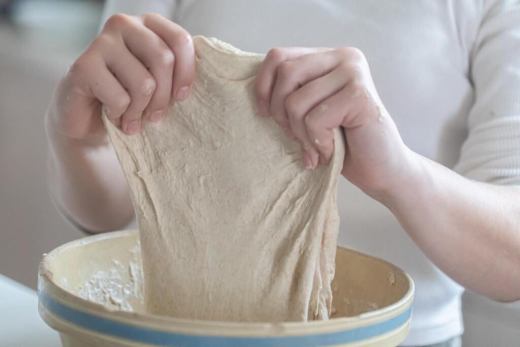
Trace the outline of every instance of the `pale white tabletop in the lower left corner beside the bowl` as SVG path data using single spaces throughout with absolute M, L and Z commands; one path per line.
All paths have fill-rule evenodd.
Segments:
M 0 275 L 0 346 L 58 347 L 58 333 L 38 314 L 36 292 Z

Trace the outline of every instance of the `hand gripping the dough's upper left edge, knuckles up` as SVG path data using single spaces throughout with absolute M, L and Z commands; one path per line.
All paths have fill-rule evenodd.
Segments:
M 195 75 L 186 30 L 158 14 L 114 15 L 61 79 L 47 130 L 72 139 L 105 138 L 105 105 L 115 125 L 136 134 L 143 121 L 163 118 L 172 96 L 186 99 Z

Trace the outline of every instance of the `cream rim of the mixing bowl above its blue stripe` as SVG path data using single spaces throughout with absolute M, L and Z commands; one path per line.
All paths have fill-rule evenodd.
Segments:
M 47 265 L 47 260 L 54 258 L 60 252 L 69 250 L 75 247 L 81 247 L 95 242 L 103 240 L 135 236 L 138 234 L 137 229 L 119 230 L 115 232 L 102 233 L 93 236 L 87 236 L 84 238 L 76 239 L 53 249 L 47 254 L 43 255 L 43 258 L 38 267 L 38 301 L 39 305 L 42 305 L 42 298 L 44 295 L 52 300 L 58 301 L 62 305 L 71 307 L 74 310 L 84 312 L 97 317 L 114 320 L 116 322 L 136 326 L 136 327 L 149 327 L 154 330 L 162 331 L 183 331 L 186 333 L 197 331 L 201 335 L 225 335 L 225 336 L 251 336 L 252 333 L 262 333 L 262 336 L 266 336 L 266 329 L 272 330 L 272 333 L 276 335 L 276 332 L 283 330 L 284 335 L 301 335 L 302 328 L 306 335 L 314 333 L 326 333 L 344 330 L 346 327 L 349 329 L 363 326 L 366 324 L 376 324 L 384 322 L 385 320 L 403 314 L 410 310 L 413 303 L 414 294 L 414 282 L 412 278 L 402 269 L 396 265 L 389 263 L 383 259 L 377 258 L 369 254 L 365 254 L 353 249 L 338 246 L 365 258 L 373 259 L 384 263 L 391 267 L 393 271 L 399 272 L 404 275 L 407 279 L 409 288 L 407 293 L 398 301 L 388 306 L 382 307 L 381 309 L 362 313 L 357 316 L 350 317 L 337 317 L 329 320 L 313 320 L 310 322 L 254 322 L 254 323 L 241 323 L 241 322 L 225 322 L 218 320 L 201 320 L 201 319 L 189 319 L 189 318 L 178 318 L 170 316 L 162 316 L 157 314 L 150 314 L 145 312 L 128 312 L 121 310 L 111 310 L 107 307 L 82 299 L 77 295 L 61 288 L 58 284 L 53 281 L 53 273 L 50 272 Z M 411 312 L 410 312 L 411 315 Z M 222 329 L 226 330 L 223 334 Z M 230 333 L 232 331 L 232 333 Z M 220 333 L 219 333 L 220 332 Z

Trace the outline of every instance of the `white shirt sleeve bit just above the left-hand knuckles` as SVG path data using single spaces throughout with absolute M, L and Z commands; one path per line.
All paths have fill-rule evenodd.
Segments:
M 155 12 L 168 19 L 173 18 L 175 0 L 106 0 L 101 15 L 101 28 L 116 13 L 136 16 Z

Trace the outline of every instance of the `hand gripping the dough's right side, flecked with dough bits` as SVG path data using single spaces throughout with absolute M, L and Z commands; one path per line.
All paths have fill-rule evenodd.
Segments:
M 341 126 L 347 151 L 342 174 L 367 194 L 402 183 L 408 148 L 375 89 L 365 56 L 352 47 L 276 48 L 255 80 L 259 113 L 298 140 L 307 168 L 327 163 Z

